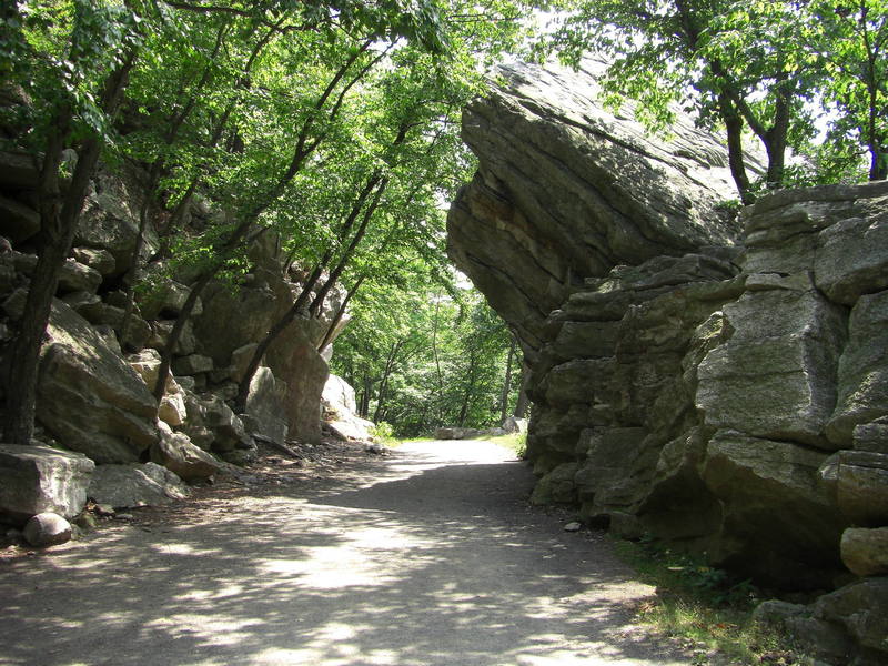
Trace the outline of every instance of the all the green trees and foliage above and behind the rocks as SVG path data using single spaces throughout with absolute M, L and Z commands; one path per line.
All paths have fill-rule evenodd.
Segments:
M 4 3 L 0 31 L 2 94 L 20 102 L 2 107 L 2 148 L 40 162 L 27 248 L 39 261 L 7 350 L 9 442 L 30 441 L 40 341 L 100 159 L 141 168 L 140 219 L 161 230 L 165 266 L 147 274 L 137 250 L 110 286 L 132 299 L 191 278 L 155 395 L 202 289 L 236 289 L 272 230 L 303 289 L 235 403 L 274 337 L 341 289 L 353 322 L 334 370 L 403 434 L 490 425 L 516 400 L 512 337 L 444 253 L 445 204 L 474 170 L 460 112 L 498 60 L 605 57 L 612 103 L 638 99 L 652 131 L 677 103 L 724 133 L 743 203 L 888 174 L 884 0 L 36 0 Z M 751 148 L 761 173 L 745 167 Z M 195 202 L 209 224 L 190 224 Z M 120 337 L 125 349 L 125 325 Z

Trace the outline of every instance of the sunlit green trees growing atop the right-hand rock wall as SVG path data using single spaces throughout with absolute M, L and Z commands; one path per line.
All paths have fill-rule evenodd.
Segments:
M 725 130 L 744 201 L 761 188 L 854 179 L 865 152 L 870 179 L 886 176 L 884 0 L 562 0 L 557 7 L 558 26 L 539 52 L 555 50 L 573 64 L 603 57 L 612 103 L 638 100 L 652 129 L 680 105 Z M 760 175 L 749 173 L 750 149 L 764 153 Z

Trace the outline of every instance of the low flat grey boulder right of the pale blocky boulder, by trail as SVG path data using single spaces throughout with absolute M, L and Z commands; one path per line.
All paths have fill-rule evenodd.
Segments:
M 114 508 L 163 506 L 190 493 L 174 472 L 157 463 L 98 465 L 87 491 L 98 504 Z

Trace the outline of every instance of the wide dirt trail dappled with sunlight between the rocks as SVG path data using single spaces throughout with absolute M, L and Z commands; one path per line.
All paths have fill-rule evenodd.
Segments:
M 0 561 L 0 664 L 690 663 L 632 625 L 653 591 L 601 535 L 527 505 L 505 450 L 335 457 Z

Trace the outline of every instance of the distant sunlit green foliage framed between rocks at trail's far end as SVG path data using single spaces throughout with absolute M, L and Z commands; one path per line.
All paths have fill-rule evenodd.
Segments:
M 511 337 L 480 294 L 454 291 L 460 300 L 431 273 L 424 284 L 371 284 L 336 341 L 333 372 L 355 387 L 367 417 L 392 423 L 400 437 L 498 425 Z M 518 382 L 515 373 L 509 404 Z

